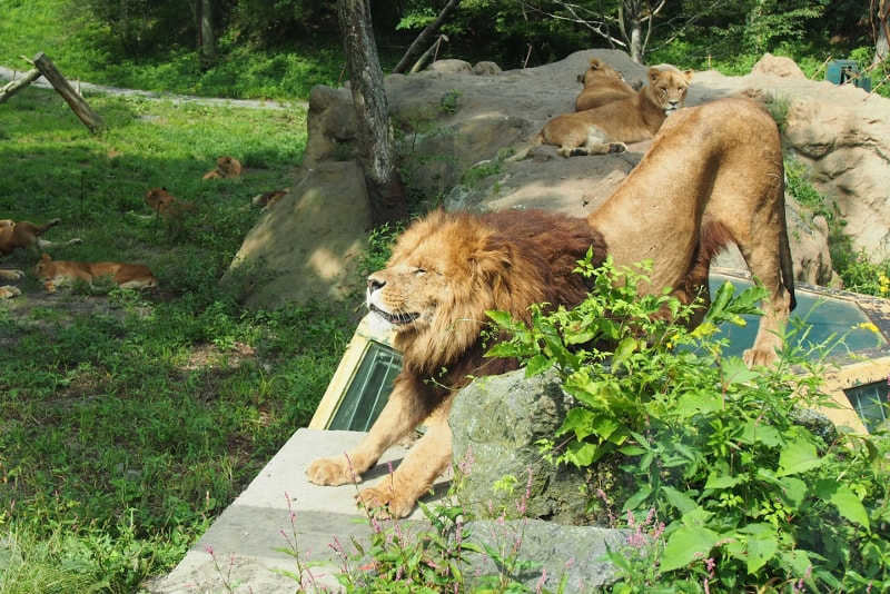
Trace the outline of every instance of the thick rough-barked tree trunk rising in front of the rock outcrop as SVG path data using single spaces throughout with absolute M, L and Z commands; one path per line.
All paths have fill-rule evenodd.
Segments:
M 374 42 L 369 2 L 338 0 L 337 7 L 372 219 L 375 226 L 395 224 L 408 217 L 408 205 L 398 174 L 395 136 Z

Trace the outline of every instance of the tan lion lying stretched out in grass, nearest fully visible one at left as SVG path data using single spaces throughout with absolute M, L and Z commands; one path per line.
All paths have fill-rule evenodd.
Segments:
M 49 293 L 61 286 L 71 286 L 78 280 L 92 286 L 93 280 L 110 278 L 125 289 L 148 289 L 158 286 L 158 279 L 144 264 L 121 264 L 117 261 L 75 261 L 52 260 L 43 254 L 34 268 L 34 276 L 43 283 Z

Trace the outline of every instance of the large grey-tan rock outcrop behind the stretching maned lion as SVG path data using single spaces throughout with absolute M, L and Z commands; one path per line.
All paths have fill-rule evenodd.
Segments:
M 504 165 L 496 157 L 522 146 L 551 117 L 573 110 L 581 89 L 577 75 L 593 56 L 621 70 L 631 82 L 644 79 L 644 67 L 614 50 L 580 51 L 560 62 L 524 70 L 501 71 L 491 63 L 473 67 L 452 60 L 428 71 L 386 77 L 403 170 L 417 200 L 426 206 L 444 202 L 477 209 L 590 212 L 639 162 L 646 142 L 631 145 L 622 155 L 562 159 L 552 147 L 540 147 L 521 162 Z M 890 242 L 890 185 L 886 184 L 890 101 L 856 87 L 808 80 L 792 65 L 765 56 L 745 77 L 698 72 L 688 105 L 738 93 L 770 100 L 784 113 L 789 152 L 811 170 L 811 182 L 846 220 L 856 248 L 883 259 Z M 249 287 L 247 300 L 255 307 L 335 297 L 344 294 L 344 284 L 362 285 L 354 249 L 356 242 L 360 249 L 366 240 L 368 226 L 360 170 L 340 165 L 324 175 L 315 172 L 355 158 L 355 116 L 348 89 L 318 87 L 313 91 L 308 132 L 301 194 L 291 195 L 289 208 L 279 208 L 285 202 L 270 209 L 236 258 L 238 264 L 250 264 L 241 266 L 238 276 Z M 315 197 L 312 217 L 296 206 L 300 196 Z M 797 279 L 835 284 L 824 218 L 792 199 L 788 204 Z M 325 205 L 328 212 L 322 214 Z M 355 235 L 333 242 L 336 234 Z M 285 261 L 317 256 L 319 237 L 330 248 L 327 254 L 332 257 L 324 258 L 324 266 L 319 267 L 317 257 L 315 264 Z M 264 250 L 261 256 L 255 254 L 257 249 Z M 269 249 L 287 256 L 278 258 Z M 339 261 L 337 249 L 344 255 Z M 743 267 L 732 251 L 718 264 Z M 264 289 L 270 278 L 278 279 L 275 288 Z

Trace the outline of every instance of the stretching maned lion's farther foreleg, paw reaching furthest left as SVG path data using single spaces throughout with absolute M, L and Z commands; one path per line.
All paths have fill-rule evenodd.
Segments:
M 362 481 L 362 473 L 374 466 L 386 449 L 414 430 L 428 415 L 412 379 L 399 378 L 380 416 L 364 439 L 342 456 L 319 458 L 309 464 L 306 475 L 317 485 L 346 485 Z

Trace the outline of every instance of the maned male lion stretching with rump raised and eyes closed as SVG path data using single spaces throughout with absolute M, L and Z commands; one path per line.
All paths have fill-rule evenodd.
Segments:
M 672 116 L 640 165 L 586 219 L 510 210 L 488 215 L 436 211 L 398 239 L 387 266 L 367 280 L 369 319 L 395 331 L 404 354 L 389 400 L 348 455 L 314 461 L 319 485 L 360 481 L 379 456 L 426 419 L 427 430 L 390 477 L 359 492 L 369 509 L 408 515 L 452 463 L 447 417 L 469 376 L 500 374 L 515 362 L 486 359 L 486 310 L 521 319 L 535 303 L 574 306 L 587 287 L 573 274 L 590 246 L 594 263 L 652 260 L 642 290 L 672 287 L 706 305 L 712 257 L 735 242 L 765 287 L 765 315 L 748 365 L 777 358 L 794 307 L 785 227 L 779 130 L 746 99 L 724 99 Z M 694 321 L 693 321 L 694 323 Z M 379 507 L 378 507 L 379 506 Z

